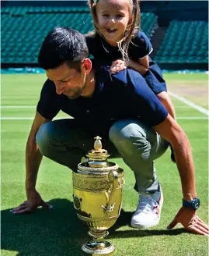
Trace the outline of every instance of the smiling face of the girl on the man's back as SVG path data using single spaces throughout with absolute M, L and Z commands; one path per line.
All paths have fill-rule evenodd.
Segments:
M 124 37 L 127 24 L 131 22 L 129 0 L 99 0 L 96 4 L 99 31 L 106 41 L 116 46 Z

